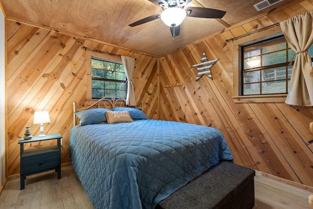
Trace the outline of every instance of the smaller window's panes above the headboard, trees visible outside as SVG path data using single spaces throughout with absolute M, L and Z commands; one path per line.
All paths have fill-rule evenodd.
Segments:
M 126 74 L 121 63 L 91 57 L 92 99 L 112 94 L 126 98 L 126 81 Z

